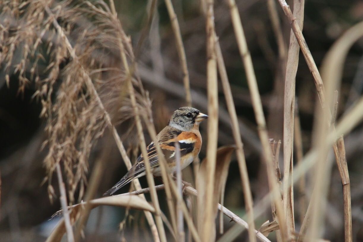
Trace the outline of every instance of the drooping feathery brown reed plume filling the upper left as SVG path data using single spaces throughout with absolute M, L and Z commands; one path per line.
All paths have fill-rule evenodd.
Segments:
M 87 87 L 87 76 L 114 122 L 129 120 L 133 112 L 118 56 L 119 36 L 128 59 L 134 57 L 130 40 L 103 1 L 54 2 L 49 5 L 52 15 L 47 7 L 46 1 L 38 0 L 1 3 L 0 63 L 7 80 L 19 78 L 19 92 L 29 86 L 36 89 L 34 98 L 42 104 L 40 116 L 47 120 L 48 139 L 43 144 L 48 150 L 44 159 L 47 179 L 52 180 L 55 165 L 61 163 L 73 202 L 77 189 L 78 200 L 83 197 L 89 155 L 107 125 L 104 111 Z M 54 19 L 72 44 L 77 61 L 57 33 Z M 147 98 L 140 94 L 142 86 L 134 78 L 133 85 L 140 90 L 136 97 L 143 110 Z

